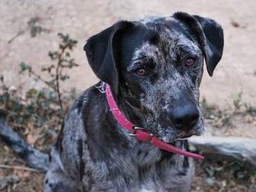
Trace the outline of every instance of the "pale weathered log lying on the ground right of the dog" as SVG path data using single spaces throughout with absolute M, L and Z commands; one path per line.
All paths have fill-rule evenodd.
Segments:
M 232 158 L 256 167 L 256 140 L 250 138 L 200 136 L 189 143 L 204 152 L 206 158 Z

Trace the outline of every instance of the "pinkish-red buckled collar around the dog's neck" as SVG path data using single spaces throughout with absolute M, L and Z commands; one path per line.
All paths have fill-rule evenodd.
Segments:
M 112 114 L 115 116 L 116 121 L 122 125 L 131 136 L 135 136 L 140 141 L 150 142 L 154 146 L 166 150 L 168 152 L 172 152 L 175 154 L 180 154 L 185 157 L 193 157 L 194 159 L 204 159 L 204 156 L 200 156 L 198 154 L 193 154 L 191 152 L 187 152 L 184 150 L 181 150 L 180 148 L 174 147 L 173 145 L 170 145 L 168 143 L 164 143 L 163 141 L 157 139 L 155 136 L 153 136 L 152 133 L 144 131 L 141 127 L 136 127 L 134 124 L 129 122 L 127 118 L 122 114 L 120 109 L 118 108 L 115 99 L 112 95 L 110 86 L 106 84 L 106 96 L 108 100 L 109 108 L 111 109 Z

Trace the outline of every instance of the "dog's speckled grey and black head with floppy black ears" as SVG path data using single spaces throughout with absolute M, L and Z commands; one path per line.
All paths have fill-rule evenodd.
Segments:
M 204 60 L 210 76 L 223 51 L 214 20 L 188 13 L 121 21 L 84 46 L 93 72 L 140 111 L 140 125 L 165 142 L 200 135 L 199 86 Z

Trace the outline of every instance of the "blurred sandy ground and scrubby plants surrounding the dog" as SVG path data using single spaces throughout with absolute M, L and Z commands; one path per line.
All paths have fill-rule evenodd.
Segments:
M 1 0 L 0 109 L 6 121 L 31 145 L 49 150 L 76 95 L 98 81 L 83 51 L 86 39 L 118 20 L 177 11 L 214 19 L 224 30 L 223 58 L 213 77 L 205 70 L 201 87 L 209 127 L 205 135 L 255 139 L 255 0 Z M 58 65 L 60 83 L 55 73 Z M 22 164 L 0 144 L 1 164 Z M 256 191 L 256 171 L 240 161 L 198 166 L 193 191 Z M 42 177 L 0 168 L 0 191 L 42 191 Z

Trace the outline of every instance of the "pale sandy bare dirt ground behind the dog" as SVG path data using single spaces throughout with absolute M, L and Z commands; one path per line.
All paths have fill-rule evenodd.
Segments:
M 210 17 L 217 20 L 224 29 L 223 58 L 212 78 L 205 70 L 201 97 L 205 97 L 207 103 L 219 108 L 233 108 L 237 94 L 242 92 L 243 102 L 256 106 L 255 0 L 1 0 L 0 74 L 3 74 L 6 84 L 16 87 L 20 84 L 26 88 L 42 86 L 27 77 L 19 76 L 19 63 L 25 61 L 40 72 L 40 68 L 50 62 L 47 57 L 48 52 L 58 47 L 57 33 L 68 33 L 78 41 L 73 56 L 80 66 L 74 68 L 71 78 L 63 84 L 63 87 L 67 89 L 76 87 L 78 92 L 81 92 L 97 81 L 83 51 L 83 45 L 88 37 L 121 19 L 172 15 L 176 11 Z M 45 31 L 31 38 L 28 21 L 35 17 L 40 19 L 38 24 Z M 209 125 L 211 127 L 211 124 Z M 256 120 L 255 117 L 248 115 L 237 116 L 233 120 L 232 129 L 221 129 L 221 131 L 213 129 L 208 134 L 256 138 Z M 6 152 L 7 149 L 3 150 Z M 13 159 L 10 164 L 20 164 L 12 154 L 1 156 L 0 163 L 4 164 L 10 158 Z M 0 176 L 8 173 L 7 170 L 2 170 Z M 24 173 L 28 174 L 23 171 L 14 172 L 16 175 Z M 29 174 L 31 175 L 25 178 L 38 177 L 37 182 L 38 180 L 42 182 L 42 175 Z M 31 189 L 33 188 L 34 191 L 42 189 L 36 186 L 38 183 L 35 183 L 35 187 L 32 186 Z M 20 188 L 16 191 L 20 191 Z

